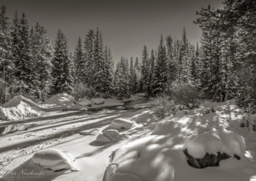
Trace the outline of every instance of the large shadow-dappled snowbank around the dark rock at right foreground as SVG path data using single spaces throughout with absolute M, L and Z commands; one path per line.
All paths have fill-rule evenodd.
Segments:
M 237 115 L 236 106 L 222 103 L 213 107 L 216 106 L 215 111 L 211 104 L 195 110 L 180 110 L 157 122 L 151 135 L 113 152 L 103 180 L 243 181 L 255 178 L 256 164 L 246 157 L 244 145 L 245 142 L 255 148 L 251 139 L 255 132 L 247 134 L 248 130 L 240 127 L 242 116 Z M 203 157 L 206 152 L 225 152 L 232 157 L 221 160 L 220 166 L 198 169 L 188 164 L 184 148 L 195 157 Z

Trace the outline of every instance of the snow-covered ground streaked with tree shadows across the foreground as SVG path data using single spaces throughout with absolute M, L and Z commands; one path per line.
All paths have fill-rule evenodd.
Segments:
M 23 169 L 43 171 L 41 180 L 256 180 L 256 132 L 252 127 L 241 127 L 245 114 L 239 112 L 234 101 L 205 101 L 199 108 L 177 111 L 172 117 L 158 122 L 150 108 L 140 107 L 139 110 L 104 109 L 98 112 L 68 110 L 20 120 L 19 124 L 29 125 L 27 130 L 0 137 L 1 176 L 6 171 Z M 3 121 L 0 127 L 12 124 L 17 122 Z M 221 161 L 220 166 L 204 169 L 189 166 L 183 150 L 187 147 L 196 149 L 189 141 L 195 138 L 197 144 L 222 144 L 209 141 L 220 138 L 225 144 L 227 136 L 221 131 L 232 131 L 227 133 L 233 135 L 234 132 L 238 136 L 230 134 L 231 141 L 232 138 L 239 139 L 239 134 L 243 136 L 245 154 L 243 147 L 233 150 L 241 159 L 230 157 Z M 211 139 L 196 137 L 203 133 L 207 134 L 203 138 Z M 218 138 L 212 138 L 212 135 Z M 227 147 L 220 144 L 219 149 L 227 152 L 239 143 L 241 141 L 234 144 L 228 141 Z M 53 153 L 57 160 L 51 162 L 48 156 L 45 159 L 39 152 L 40 159 L 36 159 L 35 166 L 31 163 L 34 154 L 45 148 L 57 150 Z M 216 152 L 213 149 L 216 147 L 201 148 L 200 156 L 204 152 Z M 197 156 L 194 151 L 190 152 Z M 76 161 L 70 157 L 76 157 Z M 40 163 L 44 163 L 43 166 Z M 48 165 L 51 170 L 47 169 Z M 54 168 L 65 169 L 54 171 Z

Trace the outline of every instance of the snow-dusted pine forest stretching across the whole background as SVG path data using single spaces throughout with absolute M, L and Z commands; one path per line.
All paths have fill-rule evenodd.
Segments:
M 226 101 L 256 112 L 256 3 L 225 0 L 223 8 L 196 11 L 195 24 L 202 29 L 200 43 L 192 45 L 184 27 L 181 40 L 160 37 L 156 50 L 143 47 L 141 61 L 121 57 L 114 64 L 102 34 L 90 30 L 76 51 L 70 53 L 67 38 L 59 30 L 52 45 L 44 27 L 29 29 L 24 13 L 15 13 L 12 24 L 1 8 L 1 101 L 4 94 L 45 99 L 49 94 L 72 94 L 82 83 L 105 97 L 129 98 L 146 92 L 157 96 L 173 83 L 198 87 L 201 98 Z

